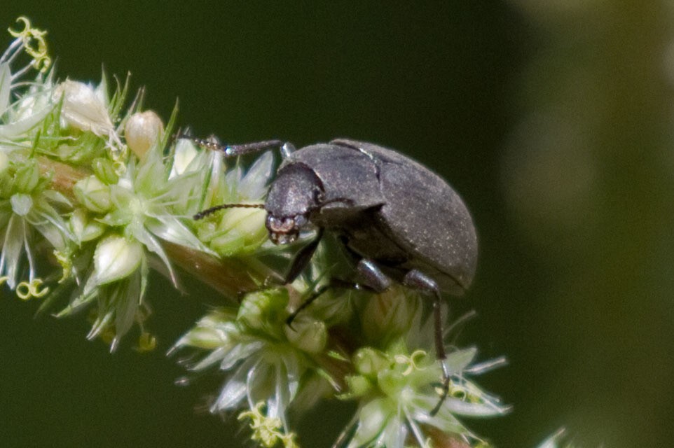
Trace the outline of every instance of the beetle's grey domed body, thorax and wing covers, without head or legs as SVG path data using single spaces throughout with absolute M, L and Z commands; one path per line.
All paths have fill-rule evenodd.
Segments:
M 345 237 L 351 251 L 392 276 L 419 269 L 460 295 L 472 282 L 477 238 L 472 218 L 448 184 L 396 151 L 338 139 L 284 160 L 310 169 L 324 197 L 310 221 Z

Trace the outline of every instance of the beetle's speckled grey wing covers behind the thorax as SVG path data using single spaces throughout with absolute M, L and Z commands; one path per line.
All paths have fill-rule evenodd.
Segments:
M 379 225 L 411 255 L 400 267 L 419 269 L 448 293 L 463 293 L 475 274 L 477 237 L 459 195 L 434 172 L 396 151 L 346 139 L 331 143 L 357 149 L 378 166 L 385 198 Z

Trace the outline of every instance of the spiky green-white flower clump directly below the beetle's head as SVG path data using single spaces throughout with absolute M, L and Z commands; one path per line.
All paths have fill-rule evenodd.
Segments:
M 305 323 L 308 330 L 287 337 L 288 302 L 285 288 L 250 293 L 238 311 L 212 311 L 176 342 L 171 351 L 206 351 L 206 356 L 191 363 L 191 370 L 218 366 L 228 373 L 212 412 L 254 409 L 263 403 L 266 418 L 279 419 L 282 433 L 291 433 L 287 409 L 298 388 L 312 376 L 315 363 L 310 355 L 324 349 L 326 328 Z

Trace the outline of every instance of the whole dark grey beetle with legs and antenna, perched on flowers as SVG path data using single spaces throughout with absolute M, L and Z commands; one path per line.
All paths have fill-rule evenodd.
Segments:
M 433 296 L 436 356 L 443 372 L 443 395 L 431 412 L 435 414 L 449 381 L 441 293 L 462 295 L 477 262 L 475 227 L 453 188 L 411 158 L 363 141 L 336 139 L 294 151 L 279 140 L 235 146 L 193 140 L 230 156 L 281 148 L 284 160 L 264 205 L 223 204 L 194 218 L 230 207 L 263 208 L 275 244 L 295 241 L 310 225 L 317 228 L 315 238 L 291 263 L 287 282 L 301 274 L 328 231 L 354 256 L 358 284 L 382 292 L 399 281 Z

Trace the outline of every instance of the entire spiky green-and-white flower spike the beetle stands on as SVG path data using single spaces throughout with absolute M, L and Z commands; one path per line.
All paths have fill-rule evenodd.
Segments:
M 432 413 L 443 370 L 429 354 L 432 325 L 418 293 L 331 286 L 352 271 L 329 237 L 305 272 L 280 286 L 305 238 L 274 246 L 259 208 L 193 220 L 216 204 L 260 204 L 272 153 L 246 169 L 173 139 L 176 111 L 163 123 L 142 110 L 142 91 L 124 109 L 128 82 L 109 94 L 105 76 L 98 85 L 55 79 L 45 33 L 20 22 L 0 57 L 1 285 L 42 297 L 40 309 L 58 307 L 56 316 L 87 311 L 88 337 L 112 350 L 137 325 L 145 351 L 156 345 L 146 329 L 150 270 L 178 287 L 176 266 L 188 267 L 230 298 L 246 294 L 201 318 L 172 352 L 188 353 L 191 372 L 223 376 L 212 412 L 238 414 L 261 446 L 297 447 L 289 411 L 329 397 L 357 402 L 338 447 L 486 446 L 459 418 L 508 411 L 472 382 L 497 363 L 474 365 L 475 349 L 451 349 L 448 397 Z M 22 80 L 31 70 L 36 78 Z

